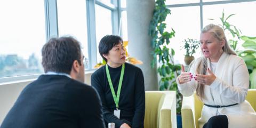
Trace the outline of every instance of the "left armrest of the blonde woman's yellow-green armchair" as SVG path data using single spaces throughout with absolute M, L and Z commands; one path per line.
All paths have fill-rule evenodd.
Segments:
M 181 106 L 181 118 L 183 128 L 195 128 L 195 102 L 194 95 L 183 97 Z

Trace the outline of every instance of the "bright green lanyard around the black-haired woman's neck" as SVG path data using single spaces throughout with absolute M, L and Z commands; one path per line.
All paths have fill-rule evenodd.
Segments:
M 108 83 L 109 83 L 109 86 L 110 86 L 110 89 L 111 89 L 114 101 L 116 103 L 116 109 L 118 109 L 118 107 L 119 107 L 118 106 L 118 102 L 119 102 L 119 97 L 120 97 L 120 92 L 121 92 L 121 87 L 122 87 L 122 82 L 123 82 L 123 77 L 124 77 L 124 63 L 122 65 L 121 76 L 120 76 L 120 79 L 119 79 L 117 96 L 115 94 L 115 90 L 114 90 L 113 84 L 111 82 L 111 77 L 110 77 L 110 74 L 109 74 L 108 65 L 106 65 L 106 71 L 107 71 Z

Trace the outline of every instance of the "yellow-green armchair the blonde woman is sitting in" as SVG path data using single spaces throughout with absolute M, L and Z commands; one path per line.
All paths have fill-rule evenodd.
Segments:
M 247 93 L 246 100 L 250 102 L 254 110 L 256 110 L 256 89 L 250 89 Z M 198 128 L 198 119 L 201 117 L 203 102 L 196 98 L 194 93 L 190 97 L 183 97 L 181 107 L 182 127 Z

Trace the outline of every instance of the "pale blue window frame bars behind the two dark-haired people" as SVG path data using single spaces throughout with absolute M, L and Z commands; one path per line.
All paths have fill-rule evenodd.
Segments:
M 87 42 L 89 54 L 89 68 L 85 73 L 92 73 L 95 69 L 93 67 L 97 64 L 97 42 L 95 35 L 95 4 L 111 10 L 112 31 L 114 35 L 118 35 L 119 19 L 121 17 L 120 0 L 111 0 L 111 3 L 101 0 L 85 0 L 86 1 L 86 18 L 87 18 Z M 45 30 L 46 41 L 52 37 L 59 37 L 58 33 L 58 11 L 57 0 L 44 0 L 45 6 Z M 6 83 L 16 83 L 20 81 L 31 81 L 36 79 L 41 74 L 21 75 L 0 77 L 0 85 Z

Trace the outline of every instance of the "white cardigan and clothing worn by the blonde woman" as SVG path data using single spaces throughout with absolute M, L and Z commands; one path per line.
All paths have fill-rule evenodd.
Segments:
M 190 73 L 195 76 L 195 70 L 199 59 L 195 60 L 190 68 Z M 207 59 L 207 67 L 210 67 L 215 81 L 204 87 L 204 103 L 208 105 L 227 106 L 225 108 L 211 108 L 203 106 L 202 116 L 199 119 L 199 127 L 202 127 L 209 118 L 215 115 L 226 115 L 229 127 L 256 127 L 256 113 L 250 103 L 245 100 L 249 88 L 249 73 L 242 58 L 237 55 L 223 53 L 217 63 L 210 64 Z M 196 90 L 195 79 L 190 82 L 179 84 L 178 89 L 183 96 L 190 96 Z

